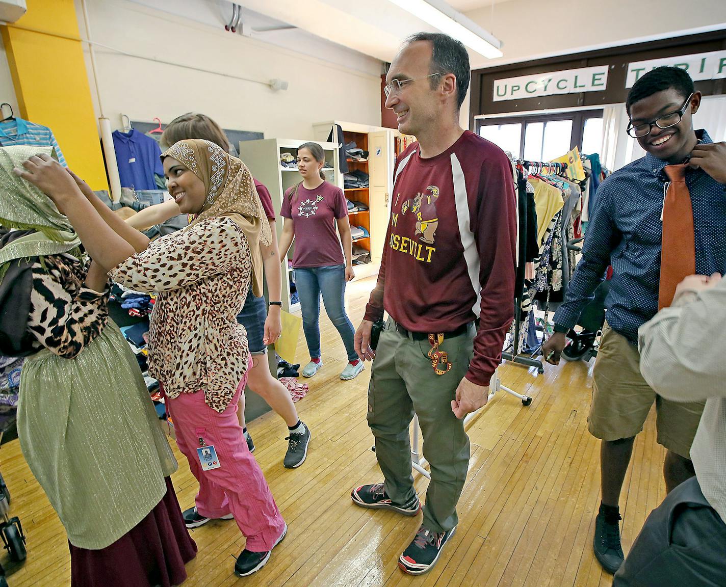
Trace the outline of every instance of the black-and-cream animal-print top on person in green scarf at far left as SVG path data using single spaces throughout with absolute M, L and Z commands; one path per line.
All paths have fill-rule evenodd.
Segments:
M 49 255 L 44 263 L 32 267 L 28 329 L 38 350 L 73 358 L 106 326 L 108 292 L 84 287 L 86 267 L 70 255 Z

